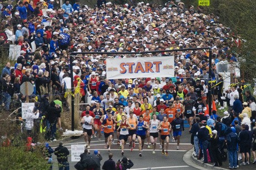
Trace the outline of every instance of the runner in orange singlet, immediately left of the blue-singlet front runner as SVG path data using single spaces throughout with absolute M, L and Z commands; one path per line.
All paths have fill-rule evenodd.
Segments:
M 131 151 L 133 151 L 135 148 L 136 126 L 138 120 L 134 117 L 134 113 L 132 112 L 132 110 L 130 110 L 130 117 L 128 118 L 128 121 L 131 125 L 131 128 L 129 129 L 129 142 Z

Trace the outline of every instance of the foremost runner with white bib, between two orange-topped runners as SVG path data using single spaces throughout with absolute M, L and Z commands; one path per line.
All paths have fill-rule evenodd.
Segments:
M 119 140 L 121 142 L 121 154 L 122 156 L 124 156 L 124 145 L 126 144 L 127 140 L 128 140 L 128 135 L 129 135 L 129 129 L 131 128 L 131 125 L 128 121 L 126 121 L 126 116 L 122 115 L 121 116 L 121 122 L 120 122 L 120 126 L 119 128 L 117 128 L 117 131 L 120 130 L 120 136 L 119 136 Z

